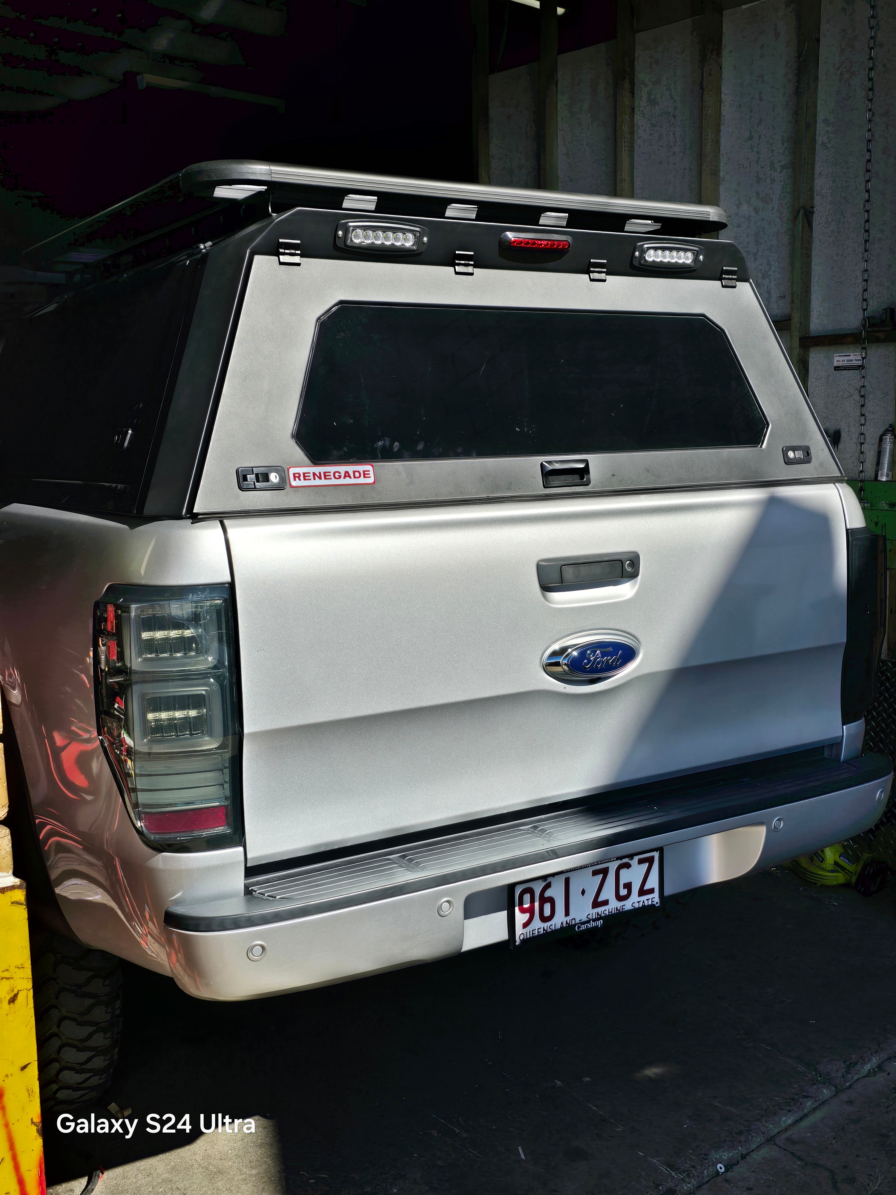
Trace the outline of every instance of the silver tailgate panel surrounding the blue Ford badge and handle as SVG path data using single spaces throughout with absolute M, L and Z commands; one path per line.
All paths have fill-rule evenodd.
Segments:
M 226 521 L 250 863 L 840 736 L 834 485 Z M 638 553 L 544 589 L 538 562 Z M 570 687 L 545 651 L 638 646 Z

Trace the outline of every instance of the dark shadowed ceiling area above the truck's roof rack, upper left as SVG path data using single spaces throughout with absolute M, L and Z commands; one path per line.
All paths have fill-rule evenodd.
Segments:
M 614 36 L 565 7 L 561 51 Z M 536 59 L 490 10 L 491 69 Z M 4 0 L 0 255 L 211 158 L 470 179 L 472 35 L 470 0 Z

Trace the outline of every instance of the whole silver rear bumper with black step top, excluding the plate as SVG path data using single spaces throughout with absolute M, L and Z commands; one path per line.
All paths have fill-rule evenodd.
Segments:
M 867 829 L 891 780 L 879 755 L 784 758 L 297 868 L 168 908 L 168 962 L 192 995 L 244 1000 L 444 958 L 507 940 L 508 884 L 655 847 L 667 895 L 732 880 Z

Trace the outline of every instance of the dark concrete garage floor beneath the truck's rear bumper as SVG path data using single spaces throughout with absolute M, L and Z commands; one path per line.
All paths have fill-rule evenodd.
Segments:
M 895 981 L 891 891 L 780 870 L 613 946 L 492 946 L 252 1004 L 133 968 L 106 1102 L 140 1123 L 48 1123 L 48 1184 L 78 1195 L 103 1166 L 99 1195 L 883 1195 Z M 191 1132 L 149 1134 L 151 1113 Z M 256 1132 L 200 1133 L 217 1113 Z

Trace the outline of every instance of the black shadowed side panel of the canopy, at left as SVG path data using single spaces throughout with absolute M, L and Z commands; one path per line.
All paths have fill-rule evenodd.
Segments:
M 136 510 L 196 270 L 142 270 L 11 327 L 0 353 L 0 494 Z

